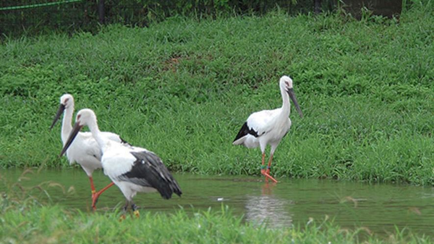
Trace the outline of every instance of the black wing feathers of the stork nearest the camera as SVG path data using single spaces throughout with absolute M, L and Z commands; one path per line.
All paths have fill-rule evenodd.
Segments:
M 131 171 L 119 178 L 127 177 L 128 181 L 135 184 L 153 187 L 166 199 L 171 198 L 173 193 L 181 196 L 178 182 L 155 153 L 151 151 L 130 153 L 137 160 L 134 161 Z

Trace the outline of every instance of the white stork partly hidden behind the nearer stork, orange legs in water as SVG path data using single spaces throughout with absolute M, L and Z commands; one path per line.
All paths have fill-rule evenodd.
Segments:
M 62 130 L 61 137 L 63 146 L 66 145 L 66 141 L 68 140 L 68 136 L 72 131 L 72 117 L 74 114 L 74 98 L 71 94 L 65 94 L 60 97 L 60 106 L 57 110 L 57 113 L 54 117 L 54 121 L 51 124 L 50 130 L 54 126 L 54 124 L 59 120 L 60 115 L 63 115 L 62 121 Z M 111 132 L 102 132 L 103 136 L 108 138 L 109 140 L 113 140 L 118 143 L 125 143 L 119 135 L 111 133 Z M 95 190 L 94 182 L 92 179 L 92 173 L 96 169 L 101 169 L 101 149 L 98 146 L 97 141 L 93 138 L 90 132 L 80 132 L 74 141 L 74 143 L 69 146 L 66 151 L 66 157 L 69 160 L 70 164 L 74 164 L 77 162 L 81 168 L 86 172 L 87 176 L 90 180 L 90 188 L 92 191 L 92 208 L 96 209 L 96 203 L 98 201 L 98 197 L 107 190 L 109 187 L 113 185 L 113 182 L 104 187 L 101 191 L 97 192 Z

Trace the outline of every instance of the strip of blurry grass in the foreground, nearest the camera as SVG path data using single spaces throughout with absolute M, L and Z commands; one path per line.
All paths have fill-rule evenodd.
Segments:
M 368 229 L 342 229 L 332 221 L 306 226 L 268 229 L 242 223 L 229 209 L 208 210 L 188 216 L 142 213 L 119 222 L 114 213 L 82 213 L 59 206 L 7 211 L 1 216 L 2 243 L 424 243 L 430 238 L 406 231 L 379 239 Z

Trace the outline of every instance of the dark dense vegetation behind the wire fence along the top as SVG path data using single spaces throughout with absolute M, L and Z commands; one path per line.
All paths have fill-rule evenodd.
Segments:
M 52 31 L 95 33 L 101 23 L 148 26 L 173 16 L 214 18 L 264 14 L 276 7 L 289 13 L 312 12 L 312 0 L 2 0 L 0 39 L 8 36 L 38 35 Z M 320 2 L 320 1 L 318 1 Z M 335 0 L 322 0 L 322 9 L 331 10 Z

